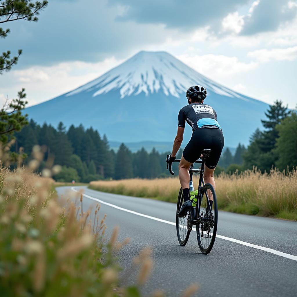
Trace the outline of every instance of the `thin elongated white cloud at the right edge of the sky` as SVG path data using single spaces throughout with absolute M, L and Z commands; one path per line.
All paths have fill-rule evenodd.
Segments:
M 250 58 L 255 58 L 260 62 L 269 62 L 271 60 L 293 61 L 297 58 L 297 46 L 290 48 L 274 48 L 272 50 L 254 50 L 253 52 L 249 52 L 247 56 Z

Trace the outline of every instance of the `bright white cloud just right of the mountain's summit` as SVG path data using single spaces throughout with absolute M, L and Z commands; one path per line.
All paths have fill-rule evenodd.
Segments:
M 214 80 L 221 80 L 226 76 L 231 76 L 241 72 L 247 72 L 257 67 L 256 62 L 241 62 L 237 57 L 223 55 L 180 55 L 178 59 L 194 68 L 196 71 Z

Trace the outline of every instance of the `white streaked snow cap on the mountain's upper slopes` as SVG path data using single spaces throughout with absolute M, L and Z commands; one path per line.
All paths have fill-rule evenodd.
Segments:
M 96 97 L 119 90 L 120 97 L 163 92 L 166 96 L 185 96 L 189 86 L 202 85 L 214 93 L 242 98 L 238 93 L 204 77 L 166 52 L 141 51 L 99 78 L 69 92 L 93 92 Z M 242 98 L 244 99 L 244 98 Z

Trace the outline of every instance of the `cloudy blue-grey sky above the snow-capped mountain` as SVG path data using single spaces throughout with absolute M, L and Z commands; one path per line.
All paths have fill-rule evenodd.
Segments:
M 23 49 L 0 100 L 29 105 L 70 91 L 140 50 L 165 50 L 250 97 L 295 108 L 297 0 L 49 0 L 38 23 L 3 24 L 1 50 Z

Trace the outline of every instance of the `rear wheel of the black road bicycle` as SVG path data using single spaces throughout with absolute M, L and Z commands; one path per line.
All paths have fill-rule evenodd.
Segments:
M 209 211 L 209 198 L 213 197 L 212 210 Z M 197 224 L 196 233 L 200 251 L 208 254 L 214 246 L 217 235 L 218 225 L 218 205 L 217 196 L 214 187 L 211 184 L 205 184 L 198 199 L 198 210 L 200 214 L 200 223 Z

